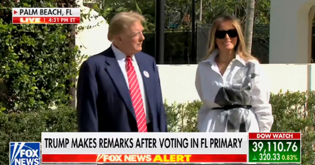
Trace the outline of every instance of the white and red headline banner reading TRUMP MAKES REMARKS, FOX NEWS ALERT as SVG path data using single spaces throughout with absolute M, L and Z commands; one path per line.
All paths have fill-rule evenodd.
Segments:
M 248 133 L 42 133 L 43 163 L 246 163 Z

